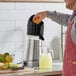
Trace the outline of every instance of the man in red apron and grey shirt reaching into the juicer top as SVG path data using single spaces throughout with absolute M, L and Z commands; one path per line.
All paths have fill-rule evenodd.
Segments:
M 48 17 L 58 24 L 68 26 L 63 59 L 63 76 L 76 76 L 76 0 L 65 0 L 65 2 L 66 8 L 73 10 L 72 15 L 56 11 L 42 11 L 34 16 L 33 21 L 41 22 Z

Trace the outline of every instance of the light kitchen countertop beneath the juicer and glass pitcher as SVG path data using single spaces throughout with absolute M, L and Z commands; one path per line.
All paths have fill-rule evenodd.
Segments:
M 63 65 L 62 62 L 53 63 L 53 67 L 50 70 L 47 69 L 39 70 L 38 68 L 32 68 L 31 70 L 28 71 L 0 74 L 0 76 L 51 76 L 51 75 L 60 76 L 62 74 L 62 65 Z

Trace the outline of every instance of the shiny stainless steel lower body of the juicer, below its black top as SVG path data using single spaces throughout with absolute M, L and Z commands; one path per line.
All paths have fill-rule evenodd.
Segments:
M 38 67 L 39 65 L 39 44 L 40 40 L 28 39 L 27 66 Z

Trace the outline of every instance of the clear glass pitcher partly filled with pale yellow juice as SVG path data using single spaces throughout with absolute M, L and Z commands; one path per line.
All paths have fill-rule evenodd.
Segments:
M 52 69 L 52 53 L 48 47 L 40 47 L 39 69 Z

